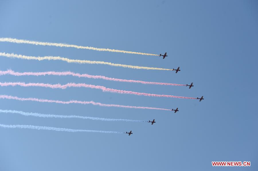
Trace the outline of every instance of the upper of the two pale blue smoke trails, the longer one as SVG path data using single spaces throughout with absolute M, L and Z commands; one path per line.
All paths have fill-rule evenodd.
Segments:
M 100 121 L 126 121 L 126 122 L 148 122 L 140 120 L 129 120 L 129 119 L 110 119 L 110 118 L 97 118 L 97 117 L 88 117 L 88 116 L 76 116 L 76 115 L 52 115 L 52 114 L 39 114 L 31 112 L 22 112 L 17 110 L 1 110 L 0 113 L 13 113 L 21 114 L 24 116 L 36 116 L 41 118 L 78 118 L 78 119 L 91 119 L 91 120 L 100 120 Z

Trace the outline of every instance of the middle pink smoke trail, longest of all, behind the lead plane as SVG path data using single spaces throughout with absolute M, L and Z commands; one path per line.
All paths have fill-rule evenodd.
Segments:
M 100 89 L 103 92 L 113 92 L 119 94 L 134 94 L 138 96 L 154 96 L 154 97 L 167 97 L 167 98 L 182 98 L 182 99 L 196 99 L 196 98 L 189 98 L 189 97 L 182 97 L 182 96 L 172 96 L 172 95 L 163 95 L 163 94 L 150 94 L 150 93 L 139 93 L 139 92 L 132 92 L 126 90 L 116 90 L 112 88 L 106 88 L 104 86 L 95 86 L 91 84 L 85 83 L 67 83 L 64 85 L 61 84 L 45 84 L 45 83 L 21 83 L 21 82 L 5 82 L 1 83 L 0 86 L 22 86 L 22 87 L 45 87 L 45 88 L 60 88 L 66 89 L 68 87 L 85 87 L 85 88 L 93 88 L 93 89 Z

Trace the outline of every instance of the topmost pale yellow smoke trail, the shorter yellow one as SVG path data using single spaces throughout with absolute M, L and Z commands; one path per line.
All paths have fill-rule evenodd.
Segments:
M 131 54 L 139 54 L 139 55 L 159 56 L 159 55 L 155 55 L 155 54 L 151 54 L 151 53 L 131 52 L 131 51 L 124 51 L 124 50 L 89 47 L 89 46 L 77 46 L 77 45 L 69 45 L 69 44 L 64 44 L 64 43 L 49 43 L 49 42 L 40 42 L 40 41 L 30 41 L 30 40 L 13 39 L 13 38 L 5 38 L 5 37 L 0 38 L 0 41 L 11 42 L 11 43 L 27 43 L 27 44 L 32 44 L 32 45 L 43 45 L 43 46 L 75 47 L 77 49 L 90 49 L 90 50 L 97 50 L 97 51 L 109 51 L 109 52 L 121 52 L 121 53 L 131 53 Z

